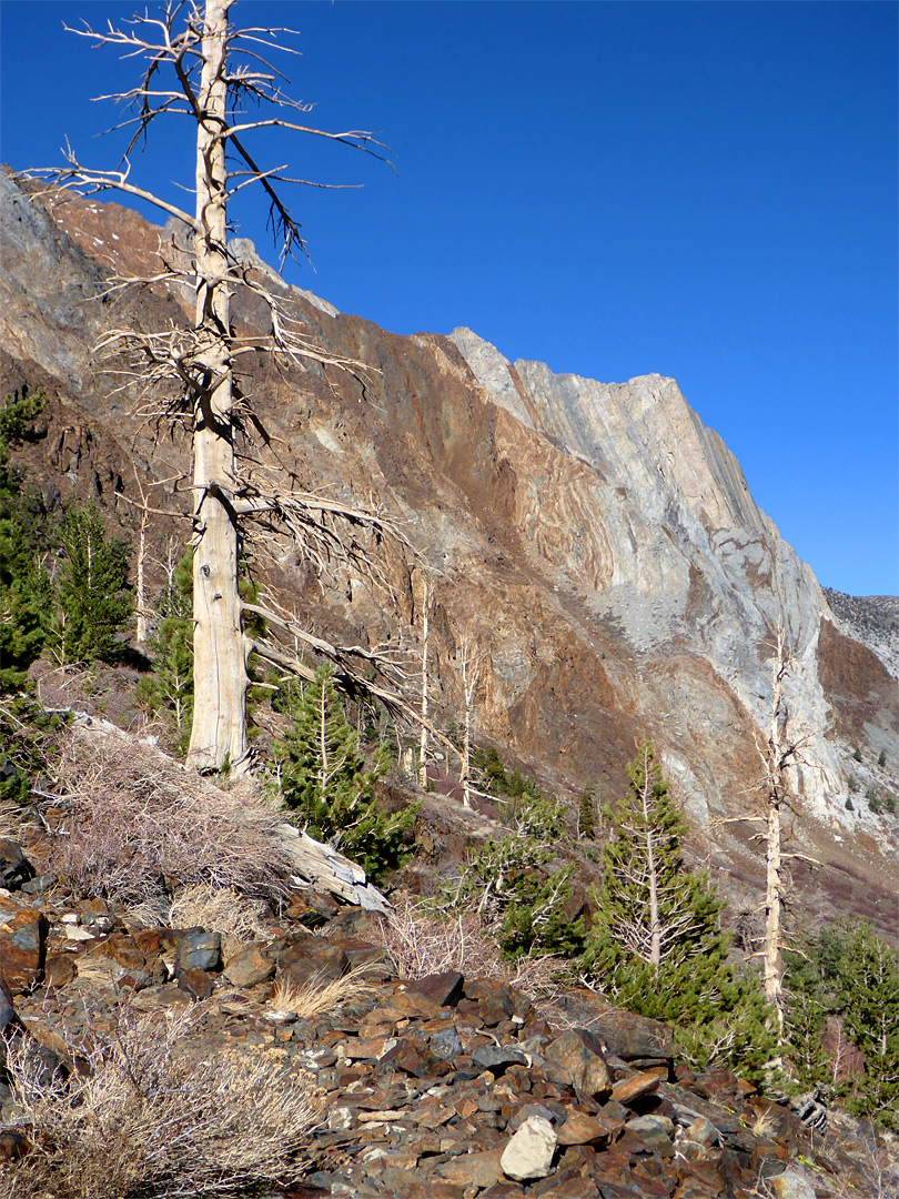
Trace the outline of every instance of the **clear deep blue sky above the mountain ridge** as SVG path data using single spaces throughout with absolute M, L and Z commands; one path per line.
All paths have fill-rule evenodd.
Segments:
M 121 134 L 91 139 L 115 110 L 89 98 L 133 64 L 61 25 L 143 8 L 2 0 L 4 161 L 54 164 L 68 135 L 115 164 Z M 399 173 L 263 146 L 364 185 L 294 192 L 315 271 L 285 273 L 394 332 L 469 325 L 557 372 L 672 375 L 822 584 L 895 594 L 898 12 L 243 0 L 235 22 L 301 31 L 282 65 L 315 120 L 378 131 Z M 174 121 L 134 161 L 173 199 L 192 171 Z M 261 209 L 235 216 L 270 255 Z

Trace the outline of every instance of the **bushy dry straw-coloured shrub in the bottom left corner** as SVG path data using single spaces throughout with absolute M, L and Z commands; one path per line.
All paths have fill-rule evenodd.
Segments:
M 0 1199 L 176 1199 L 298 1180 L 320 1107 L 308 1076 L 203 1040 L 199 1018 L 123 1010 L 110 1035 L 95 1035 L 90 1072 L 66 1083 L 41 1077 L 30 1042 L 10 1044 L 34 1147 L 0 1165 Z

